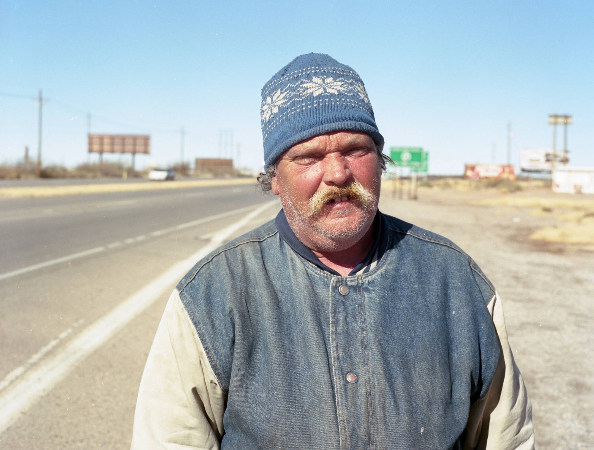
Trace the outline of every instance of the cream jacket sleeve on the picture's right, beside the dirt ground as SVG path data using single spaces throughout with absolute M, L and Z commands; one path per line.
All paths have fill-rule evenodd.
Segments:
M 489 391 L 470 407 L 463 448 L 532 450 L 532 405 L 507 340 L 503 306 L 498 293 L 487 308 L 499 337 L 501 354 Z

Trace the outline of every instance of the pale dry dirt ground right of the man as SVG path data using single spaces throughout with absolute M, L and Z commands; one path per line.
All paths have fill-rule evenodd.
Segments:
M 456 242 L 499 291 L 532 401 L 536 448 L 593 449 L 594 247 L 530 236 L 563 226 L 567 211 L 574 210 L 564 199 L 579 197 L 589 207 L 594 196 L 426 188 L 419 189 L 418 200 L 403 197 L 394 199 L 384 188 L 380 210 Z M 539 213 L 533 202 L 516 201 L 523 197 L 544 199 L 554 208 Z

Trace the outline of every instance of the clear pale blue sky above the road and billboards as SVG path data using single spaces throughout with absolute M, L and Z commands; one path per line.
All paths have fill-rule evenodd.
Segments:
M 0 0 L 0 163 L 36 154 L 37 103 L 14 95 L 42 88 L 45 163 L 89 159 L 91 113 L 91 132 L 151 135 L 139 167 L 178 161 L 184 126 L 186 160 L 216 157 L 225 128 L 258 169 L 261 87 L 320 52 L 361 75 L 387 147 L 424 147 L 430 173 L 494 146 L 505 162 L 508 122 L 517 166 L 551 147 L 549 113 L 573 115 L 571 163 L 594 166 L 593 23 L 586 1 Z

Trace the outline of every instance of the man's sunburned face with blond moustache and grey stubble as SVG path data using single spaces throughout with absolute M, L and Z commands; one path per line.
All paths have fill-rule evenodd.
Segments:
M 358 242 L 371 226 L 380 179 L 371 137 L 337 131 L 299 142 L 279 157 L 272 191 L 305 245 L 338 251 Z

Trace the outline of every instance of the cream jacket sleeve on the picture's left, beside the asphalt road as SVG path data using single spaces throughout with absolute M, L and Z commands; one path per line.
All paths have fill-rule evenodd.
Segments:
M 132 450 L 219 450 L 226 400 L 173 291 L 140 382 Z

